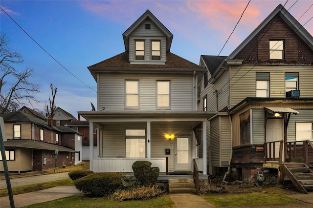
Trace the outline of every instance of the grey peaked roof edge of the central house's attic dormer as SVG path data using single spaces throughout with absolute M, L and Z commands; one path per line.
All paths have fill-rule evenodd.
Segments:
M 166 36 L 166 51 L 169 52 L 173 40 L 173 34 L 160 22 L 156 19 L 156 17 L 149 11 L 149 9 L 141 15 L 138 20 L 136 20 L 124 33 L 123 33 L 123 39 L 124 39 L 124 45 L 125 50 L 129 51 L 129 37 L 132 35 L 135 29 L 138 28 L 138 26 L 145 21 L 146 19 L 150 19 L 156 27 Z

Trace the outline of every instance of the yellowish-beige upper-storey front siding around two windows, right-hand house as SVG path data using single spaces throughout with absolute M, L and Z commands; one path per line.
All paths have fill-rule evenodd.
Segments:
M 255 97 L 256 72 L 270 73 L 269 96 L 285 97 L 285 72 L 299 72 L 301 98 L 313 97 L 313 66 L 233 66 L 231 67 L 230 95 L 231 107 L 246 97 Z

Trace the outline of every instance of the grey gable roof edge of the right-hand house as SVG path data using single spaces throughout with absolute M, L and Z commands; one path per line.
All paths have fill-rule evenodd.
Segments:
M 308 47 L 313 50 L 312 35 L 285 9 L 282 4 L 279 4 L 262 23 L 253 30 L 253 32 L 228 56 L 227 59 L 233 59 L 275 16 L 279 16 L 299 38 L 305 42 Z

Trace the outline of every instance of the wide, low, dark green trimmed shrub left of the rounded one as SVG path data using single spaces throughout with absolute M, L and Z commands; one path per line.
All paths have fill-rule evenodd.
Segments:
M 94 173 L 74 181 L 75 187 L 90 196 L 108 196 L 122 187 L 120 173 Z

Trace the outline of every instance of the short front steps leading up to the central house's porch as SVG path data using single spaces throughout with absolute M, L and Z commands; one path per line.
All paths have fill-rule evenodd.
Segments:
M 168 179 L 168 187 L 170 193 L 196 193 L 194 180 L 185 179 Z

